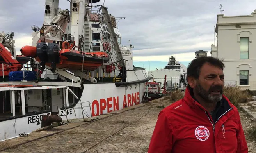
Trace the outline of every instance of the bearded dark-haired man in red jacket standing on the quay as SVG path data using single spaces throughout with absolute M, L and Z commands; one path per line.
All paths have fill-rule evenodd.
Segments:
M 158 116 L 149 153 L 247 153 L 237 108 L 224 96 L 224 64 L 198 57 L 187 69 L 183 99 Z

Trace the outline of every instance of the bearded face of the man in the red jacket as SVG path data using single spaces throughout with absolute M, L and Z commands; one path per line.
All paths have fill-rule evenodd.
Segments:
M 201 67 L 199 78 L 195 80 L 193 86 L 194 92 L 206 102 L 218 102 L 223 94 L 223 71 L 216 66 L 205 63 Z

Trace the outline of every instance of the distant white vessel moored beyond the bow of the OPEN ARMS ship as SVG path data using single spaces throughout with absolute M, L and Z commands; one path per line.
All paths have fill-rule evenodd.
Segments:
M 162 83 L 164 86 L 164 80 L 166 75 L 166 91 L 171 90 L 184 90 L 187 86 L 186 76 L 187 76 L 187 67 L 181 64 L 179 61 L 176 61 L 174 56 L 169 58 L 168 64 L 165 68 L 153 70 L 148 72 L 148 76 L 152 77 L 152 82 L 157 81 Z M 163 91 L 163 90 L 162 90 Z

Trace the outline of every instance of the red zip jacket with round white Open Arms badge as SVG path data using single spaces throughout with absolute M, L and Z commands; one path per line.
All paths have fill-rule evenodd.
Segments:
M 158 116 L 148 153 L 247 153 L 237 108 L 223 95 L 216 122 L 186 89 Z

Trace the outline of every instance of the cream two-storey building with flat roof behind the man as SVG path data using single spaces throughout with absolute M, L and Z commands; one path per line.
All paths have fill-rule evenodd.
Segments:
M 256 10 L 251 15 L 217 15 L 217 46 L 212 57 L 223 59 L 225 83 L 256 90 Z

